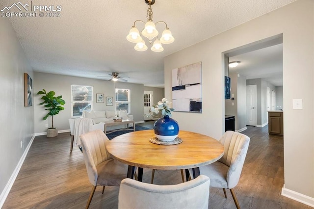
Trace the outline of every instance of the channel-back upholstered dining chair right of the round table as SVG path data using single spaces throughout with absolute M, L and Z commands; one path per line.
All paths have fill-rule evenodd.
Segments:
M 200 174 L 209 177 L 211 187 L 223 188 L 225 198 L 227 198 L 226 189 L 230 189 L 235 206 L 239 209 L 233 188 L 239 182 L 250 138 L 242 133 L 226 131 L 219 141 L 225 148 L 223 157 L 214 163 L 201 166 Z M 189 173 L 192 177 L 191 169 Z

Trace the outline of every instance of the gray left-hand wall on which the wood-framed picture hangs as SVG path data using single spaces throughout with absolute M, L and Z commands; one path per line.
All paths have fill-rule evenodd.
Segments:
M 9 182 L 34 133 L 34 106 L 24 107 L 24 73 L 34 76 L 16 33 L 0 18 L 0 192 Z M 21 141 L 23 147 L 21 148 Z

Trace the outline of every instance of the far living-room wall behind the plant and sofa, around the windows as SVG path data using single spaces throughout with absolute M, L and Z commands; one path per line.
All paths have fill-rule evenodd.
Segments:
M 51 117 L 46 121 L 43 121 L 42 118 L 45 116 L 46 111 L 41 103 L 41 96 L 36 95 L 36 93 L 41 89 L 46 89 L 46 91 L 55 91 L 56 95 L 62 95 L 62 98 L 65 100 L 66 104 L 64 105 L 64 110 L 60 111 L 58 115 L 53 117 L 54 126 L 58 128 L 59 131 L 69 130 L 69 121 L 71 118 L 71 84 L 77 85 L 89 85 L 94 87 L 94 97 L 96 93 L 103 93 L 105 97 L 113 97 L 115 99 L 115 88 L 127 88 L 131 90 L 131 114 L 134 116 L 135 122 L 144 121 L 144 107 L 143 107 L 143 94 L 144 94 L 144 85 L 142 84 L 133 84 L 127 82 L 113 82 L 105 81 L 100 79 L 92 78 L 80 78 L 72 76 L 61 76 L 56 74 L 47 74 L 35 72 L 35 133 L 46 132 L 47 128 L 45 127 L 46 123 L 49 123 L 51 126 Z M 105 103 L 96 103 L 94 102 L 94 110 L 114 110 L 115 103 L 113 106 L 106 106 Z

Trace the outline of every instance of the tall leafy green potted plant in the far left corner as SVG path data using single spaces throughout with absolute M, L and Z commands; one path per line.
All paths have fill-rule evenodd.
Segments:
M 64 107 L 61 105 L 64 105 L 65 101 L 61 99 L 62 96 L 55 97 L 54 91 L 50 91 L 47 93 L 46 90 L 43 89 L 42 91 L 37 92 L 37 94 L 44 94 L 41 98 L 42 100 L 44 100 L 44 102 L 40 104 L 47 107 L 45 110 L 48 110 L 48 114 L 43 117 L 43 120 L 46 120 L 50 115 L 52 116 L 52 127 L 48 128 L 47 137 L 55 137 L 58 135 L 58 130 L 57 128 L 53 127 L 53 115 L 59 114 L 59 111 L 64 109 Z

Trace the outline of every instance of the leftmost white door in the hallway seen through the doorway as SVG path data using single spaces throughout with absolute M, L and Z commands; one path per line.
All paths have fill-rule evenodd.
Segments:
M 246 125 L 256 126 L 256 85 L 246 86 Z

